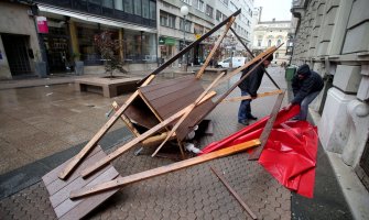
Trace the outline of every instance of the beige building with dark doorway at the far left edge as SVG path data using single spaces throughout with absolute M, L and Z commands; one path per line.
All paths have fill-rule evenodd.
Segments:
M 32 4 L 2 1 L 0 14 L 0 79 L 33 75 L 41 57 Z

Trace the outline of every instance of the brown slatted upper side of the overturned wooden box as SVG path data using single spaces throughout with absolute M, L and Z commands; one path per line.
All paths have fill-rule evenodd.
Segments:
M 186 76 L 170 80 L 165 85 L 148 85 L 140 88 L 140 91 L 158 114 L 162 119 L 167 119 L 194 102 L 204 88 L 194 76 Z

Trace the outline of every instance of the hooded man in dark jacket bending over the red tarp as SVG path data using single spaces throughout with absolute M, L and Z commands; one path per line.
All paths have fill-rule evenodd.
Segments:
M 299 67 L 296 75 L 292 78 L 293 96 L 291 103 L 286 107 L 289 110 L 293 105 L 300 105 L 300 113 L 295 120 L 306 120 L 308 105 L 319 95 L 324 87 L 322 77 L 312 72 L 307 64 Z

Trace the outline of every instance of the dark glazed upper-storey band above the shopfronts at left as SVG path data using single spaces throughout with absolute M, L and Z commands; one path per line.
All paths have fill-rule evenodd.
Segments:
M 59 7 L 64 9 L 72 9 L 76 11 L 87 12 L 90 14 L 118 19 L 130 23 L 140 24 L 143 26 L 156 28 L 156 20 L 145 19 L 140 15 L 117 10 L 113 8 L 113 1 L 111 1 L 111 7 L 105 7 L 102 4 L 102 1 L 98 0 L 36 0 L 36 2 L 50 4 L 53 7 Z

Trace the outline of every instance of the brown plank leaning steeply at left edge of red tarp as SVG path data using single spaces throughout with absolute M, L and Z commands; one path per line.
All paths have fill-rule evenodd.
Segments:
M 276 119 L 276 114 L 280 111 L 280 108 L 282 106 L 282 101 L 283 101 L 283 97 L 284 97 L 284 91 L 282 94 L 280 94 L 276 98 L 276 101 L 274 103 L 273 110 L 270 114 L 270 118 L 260 135 L 260 141 L 261 141 L 261 145 L 256 148 L 249 156 L 249 161 L 253 161 L 253 160 L 259 160 L 260 154 L 262 152 L 262 150 L 264 148 L 267 141 L 269 139 L 270 132 L 273 129 L 274 125 L 274 121 Z

